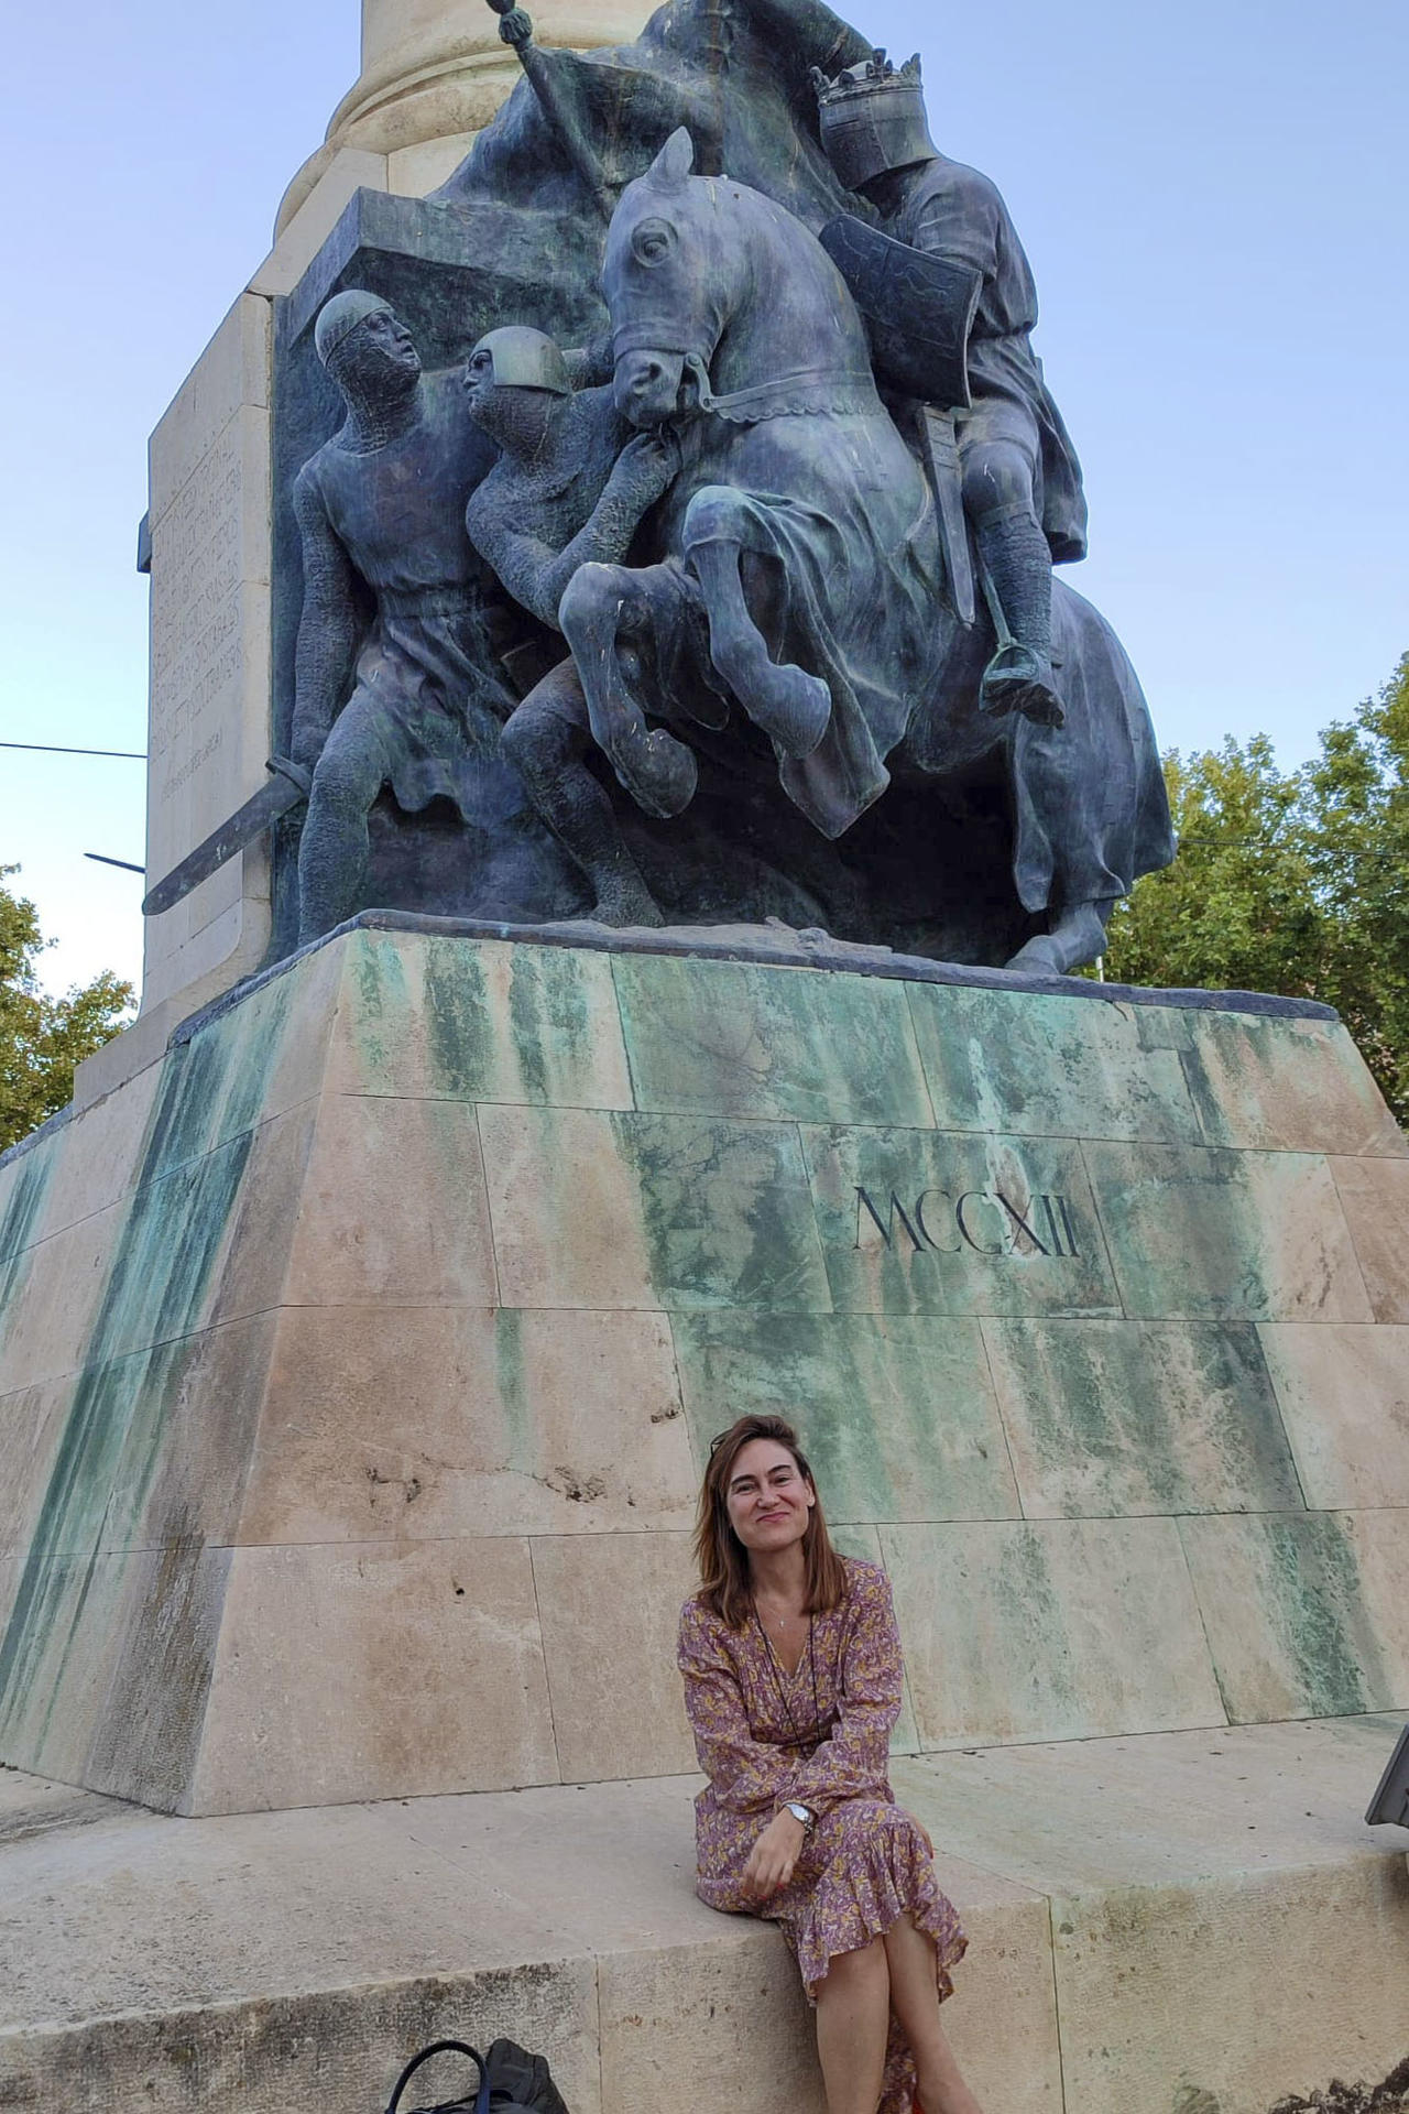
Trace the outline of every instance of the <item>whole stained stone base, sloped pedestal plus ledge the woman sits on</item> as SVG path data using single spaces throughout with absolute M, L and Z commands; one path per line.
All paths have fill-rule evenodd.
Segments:
M 691 1896 L 752 1406 L 894 1586 L 980 2095 L 1384 2076 L 1409 1150 L 1344 1027 L 549 941 L 363 920 L 0 1163 L 0 2099 L 361 2114 L 513 2032 L 575 2114 L 820 2114 Z

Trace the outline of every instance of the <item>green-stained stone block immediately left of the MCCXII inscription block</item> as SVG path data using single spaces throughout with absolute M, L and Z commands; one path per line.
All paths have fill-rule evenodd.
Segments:
M 830 1309 L 794 1129 L 632 1112 L 610 1125 L 661 1306 Z

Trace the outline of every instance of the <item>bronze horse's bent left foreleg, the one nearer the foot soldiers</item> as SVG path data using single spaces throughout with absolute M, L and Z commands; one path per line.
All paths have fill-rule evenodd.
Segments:
M 689 808 L 699 769 L 684 742 L 663 727 L 646 729 L 621 672 L 617 638 L 668 619 L 661 581 L 625 564 L 579 567 L 558 609 L 583 683 L 591 738 L 636 805 L 663 820 Z

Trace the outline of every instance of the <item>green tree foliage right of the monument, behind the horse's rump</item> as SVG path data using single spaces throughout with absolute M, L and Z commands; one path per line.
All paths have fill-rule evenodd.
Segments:
M 1409 653 L 1297 772 L 1257 734 L 1164 774 L 1179 858 L 1115 911 L 1107 977 L 1318 998 L 1409 1123 Z

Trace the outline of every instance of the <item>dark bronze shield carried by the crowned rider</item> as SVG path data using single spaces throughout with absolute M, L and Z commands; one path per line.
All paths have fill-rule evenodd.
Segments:
M 982 273 L 925 256 L 853 214 L 828 220 L 818 239 L 866 317 L 877 381 L 940 410 L 967 410 Z

